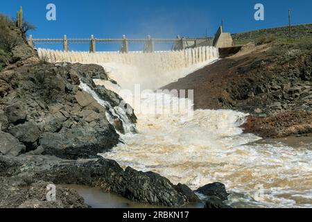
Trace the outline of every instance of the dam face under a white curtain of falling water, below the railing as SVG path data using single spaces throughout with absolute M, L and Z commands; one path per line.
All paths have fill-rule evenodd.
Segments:
M 102 65 L 110 78 L 123 89 L 140 84 L 141 89 L 158 89 L 218 59 L 218 49 L 200 46 L 180 51 L 154 53 L 76 52 L 38 49 L 40 58 L 49 62 L 71 62 Z

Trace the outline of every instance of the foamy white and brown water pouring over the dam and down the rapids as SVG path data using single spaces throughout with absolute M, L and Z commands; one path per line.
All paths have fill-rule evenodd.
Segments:
M 205 60 L 202 57 L 193 63 L 203 51 Z M 231 203 L 240 203 L 238 206 L 312 207 L 311 147 L 257 143 L 261 138 L 243 134 L 240 128 L 247 114 L 233 110 L 194 111 L 191 99 L 153 91 L 217 60 L 216 49 L 155 55 L 48 50 L 39 53 L 55 62 L 102 65 L 119 83 L 95 80 L 132 105 L 138 117 L 138 133 L 121 135 L 123 143 L 112 152 L 101 154 L 103 157 L 116 160 L 123 167 L 155 171 L 173 183 L 182 182 L 192 189 L 209 182 L 223 182 L 234 192 Z M 196 59 L 193 55 L 197 55 Z M 135 84 L 140 84 L 142 90 L 151 89 L 139 94 L 139 102 L 135 99 L 138 96 L 133 90 Z M 85 85 L 82 88 L 88 91 Z

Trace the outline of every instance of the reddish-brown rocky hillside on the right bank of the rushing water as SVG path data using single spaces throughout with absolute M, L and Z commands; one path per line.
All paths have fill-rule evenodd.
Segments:
M 258 133 L 262 137 L 311 133 L 312 37 L 247 44 L 236 55 L 219 60 L 164 88 L 194 89 L 196 109 L 232 109 L 267 118 L 259 121 L 271 124 L 264 126 L 250 119 L 256 122 L 245 126 L 246 132 Z M 300 119 L 297 115 L 295 119 L 285 116 L 287 123 L 270 119 L 287 112 L 307 113 L 304 114 L 304 126 L 297 121 Z M 290 114 L 288 117 L 295 116 Z M 284 133 L 275 132 L 279 130 Z

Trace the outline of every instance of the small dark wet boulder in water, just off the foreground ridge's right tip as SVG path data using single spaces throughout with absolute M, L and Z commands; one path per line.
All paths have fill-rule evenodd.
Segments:
M 220 182 L 214 182 L 209 185 L 205 185 L 204 187 L 200 187 L 196 190 L 196 192 L 204 194 L 205 196 L 216 196 L 222 201 L 227 200 L 227 196 L 229 196 L 225 189 L 225 185 Z

